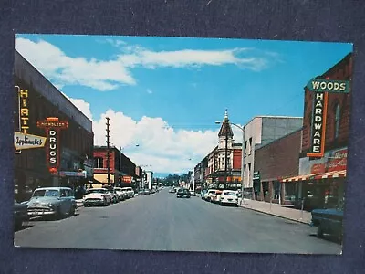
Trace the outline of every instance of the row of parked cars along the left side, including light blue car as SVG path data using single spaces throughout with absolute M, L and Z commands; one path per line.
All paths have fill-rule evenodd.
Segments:
M 111 205 L 133 197 L 131 187 L 90 188 L 83 195 L 84 206 Z M 60 219 L 73 216 L 77 208 L 74 192 L 69 187 L 39 187 L 28 201 L 14 203 L 15 228 L 22 227 L 23 222 L 35 216 L 47 216 Z

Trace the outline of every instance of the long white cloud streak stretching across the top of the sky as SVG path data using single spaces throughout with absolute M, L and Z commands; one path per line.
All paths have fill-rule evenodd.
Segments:
M 268 55 L 252 48 L 151 51 L 127 45 L 119 39 L 107 38 L 105 42 L 119 47 L 123 53 L 110 60 L 69 57 L 47 41 L 34 42 L 23 37 L 16 37 L 16 50 L 57 86 L 82 85 L 101 91 L 116 90 L 120 85 L 135 85 L 137 80 L 131 73 L 135 67 L 199 69 L 203 66 L 235 65 L 260 71 L 277 58 L 275 53 Z

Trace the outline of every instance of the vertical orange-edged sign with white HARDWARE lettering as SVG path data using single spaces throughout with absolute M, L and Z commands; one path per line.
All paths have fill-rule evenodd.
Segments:
M 313 92 L 311 149 L 308 157 L 323 157 L 325 152 L 328 92 Z

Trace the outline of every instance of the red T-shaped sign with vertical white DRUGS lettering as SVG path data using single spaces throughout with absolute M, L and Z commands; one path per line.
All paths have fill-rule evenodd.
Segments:
M 59 167 L 59 132 L 68 128 L 68 121 L 58 121 L 57 117 L 48 117 L 46 120 L 37 121 L 36 126 L 46 129 L 48 169 L 50 173 L 57 173 Z

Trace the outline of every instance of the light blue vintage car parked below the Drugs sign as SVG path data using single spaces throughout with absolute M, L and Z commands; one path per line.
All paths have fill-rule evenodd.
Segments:
M 76 210 L 75 196 L 69 187 L 40 187 L 27 202 L 28 216 L 73 216 Z

